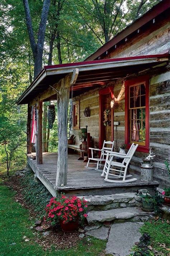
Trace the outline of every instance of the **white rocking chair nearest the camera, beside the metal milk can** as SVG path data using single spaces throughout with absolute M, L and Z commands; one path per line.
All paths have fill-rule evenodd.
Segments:
M 132 143 L 127 154 L 121 154 L 116 152 L 110 153 L 109 151 L 106 151 L 107 157 L 106 157 L 103 173 L 101 174 L 101 176 L 105 176 L 105 179 L 104 179 L 105 181 L 109 181 L 113 183 L 122 183 L 122 182 L 131 182 L 131 181 L 137 180 L 136 178 L 126 180 L 126 178 L 129 178 L 132 176 L 132 175 L 126 175 L 126 172 L 127 172 L 128 165 L 137 147 L 138 147 L 138 144 L 134 145 L 134 143 Z M 122 163 L 114 162 L 113 161 L 114 157 L 122 158 L 123 162 Z M 112 168 L 110 168 L 111 166 Z M 115 171 L 115 174 L 109 173 L 110 171 Z M 117 174 L 117 172 L 119 172 L 119 174 Z M 121 180 L 108 179 L 109 175 L 113 176 L 114 179 L 121 179 Z

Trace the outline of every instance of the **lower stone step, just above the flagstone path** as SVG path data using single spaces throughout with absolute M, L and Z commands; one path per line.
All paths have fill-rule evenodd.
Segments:
M 88 213 L 88 224 L 97 225 L 105 222 L 125 222 L 125 221 L 146 221 L 151 219 L 154 212 L 144 212 L 140 207 L 115 208 L 105 211 L 90 211 Z

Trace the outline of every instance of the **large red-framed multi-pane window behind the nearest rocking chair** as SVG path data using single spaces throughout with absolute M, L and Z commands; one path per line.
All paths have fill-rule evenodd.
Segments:
M 128 147 L 138 144 L 138 151 L 148 152 L 149 147 L 149 83 L 148 77 L 125 82 L 126 127 L 125 141 Z

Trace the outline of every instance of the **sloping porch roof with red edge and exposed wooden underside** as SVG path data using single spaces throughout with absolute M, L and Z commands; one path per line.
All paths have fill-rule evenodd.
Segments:
M 17 104 L 27 104 L 49 86 L 55 85 L 63 77 L 78 69 L 78 76 L 73 86 L 74 96 L 84 93 L 89 87 L 99 87 L 115 79 L 157 66 L 157 63 L 167 62 L 169 52 L 156 55 L 143 55 L 127 58 L 102 59 L 77 63 L 44 66 L 32 84 L 20 96 Z M 71 88 L 70 88 L 71 90 Z M 56 100 L 56 94 L 44 101 Z

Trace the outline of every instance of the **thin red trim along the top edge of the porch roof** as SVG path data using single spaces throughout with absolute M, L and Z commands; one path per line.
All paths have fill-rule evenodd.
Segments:
M 124 57 L 124 58 L 115 58 L 115 59 L 100 59 L 100 60 L 90 60 L 90 61 L 83 61 L 83 62 L 58 64 L 58 65 L 44 66 L 44 69 L 82 66 L 82 65 L 116 62 L 116 61 L 118 62 L 118 61 L 123 61 L 123 60 L 132 60 L 132 59 L 163 58 L 163 57 L 169 57 L 169 50 L 166 50 L 166 52 L 163 54 L 142 55 L 142 56 L 134 56 L 134 57 Z

